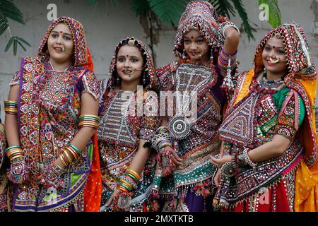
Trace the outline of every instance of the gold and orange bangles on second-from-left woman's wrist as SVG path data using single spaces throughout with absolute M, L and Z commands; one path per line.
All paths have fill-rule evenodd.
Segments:
M 136 171 L 132 169 L 126 169 L 125 174 L 119 177 L 117 188 L 124 192 L 130 192 L 133 189 L 137 189 L 139 180 L 140 175 Z

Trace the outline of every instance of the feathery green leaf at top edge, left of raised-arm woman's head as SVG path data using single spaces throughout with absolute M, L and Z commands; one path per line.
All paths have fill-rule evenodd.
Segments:
M 189 0 L 148 0 L 152 11 L 167 25 L 177 25 Z

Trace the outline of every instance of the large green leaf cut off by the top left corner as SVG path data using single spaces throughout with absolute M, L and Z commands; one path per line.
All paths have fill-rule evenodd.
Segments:
M 23 14 L 12 0 L 0 0 L 0 14 L 6 18 L 24 24 Z

